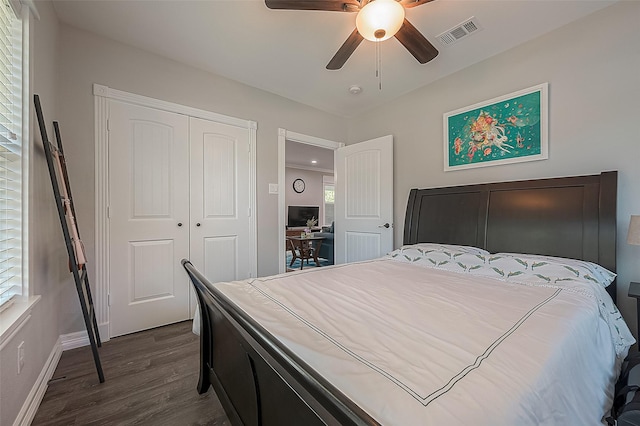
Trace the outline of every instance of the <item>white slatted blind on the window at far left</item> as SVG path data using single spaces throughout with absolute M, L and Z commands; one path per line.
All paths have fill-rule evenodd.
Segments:
M 22 292 L 22 25 L 0 0 L 0 310 Z

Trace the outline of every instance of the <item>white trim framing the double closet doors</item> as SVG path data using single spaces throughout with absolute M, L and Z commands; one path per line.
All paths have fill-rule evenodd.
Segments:
M 124 92 L 101 84 L 93 85 L 94 96 L 94 143 L 95 143 L 95 294 L 94 306 L 98 331 L 102 341 L 108 341 L 110 334 L 109 312 L 109 101 L 154 108 L 162 111 L 202 118 L 217 123 L 247 129 L 250 151 L 250 268 L 253 277 L 258 275 L 258 235 L 256 224 L 256 131 L 255 121 L 230 117 L 185 105 L 167 102 L 147 96 Z M 283 243 L 284 244 L 284 243 Z M 284 263 L 284 260 L 283 260 Z M 185 276 L 186 279 L 186 276 Z

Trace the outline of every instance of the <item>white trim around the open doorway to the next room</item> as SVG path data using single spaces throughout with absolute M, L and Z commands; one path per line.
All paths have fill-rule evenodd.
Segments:
M 321 148 L 332 149 L 334 151 L 334 181 L 335 181 L 335 150 L 338 148 L 342 148 L 345 146 L 344 142 L 336 142 L 329 139 L 322 139 L 315 136 L 304 135 L 302 133 L 292 132 L 287 129 L 279 128 L 278 129 L 278 272 L 285 272 L 285 250 L 282 250 L 284 247 L 285 241 L 285 232 L 286 232 L 286 223 L 285 223 L 285 206 L 286 206 L 286 191 L 285 191 L 285 168 L 286 168 L 286 142 L 298 142 L 306 145 L 314 145 L 319 146 Z

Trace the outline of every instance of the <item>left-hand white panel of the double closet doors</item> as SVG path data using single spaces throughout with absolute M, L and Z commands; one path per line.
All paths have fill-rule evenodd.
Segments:
M 189 119 L 109 104 L 110 335 L 189 318 Z

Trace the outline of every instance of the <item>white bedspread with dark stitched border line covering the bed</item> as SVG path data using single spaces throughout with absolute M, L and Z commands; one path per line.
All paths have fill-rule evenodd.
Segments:
M 586 291 L 390 259 L 215 286 L 384 425 L 598 425 L 610 405 Z

